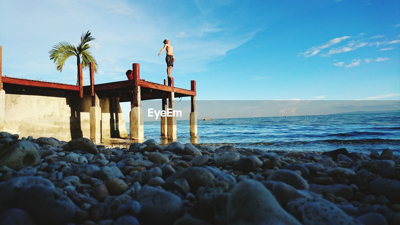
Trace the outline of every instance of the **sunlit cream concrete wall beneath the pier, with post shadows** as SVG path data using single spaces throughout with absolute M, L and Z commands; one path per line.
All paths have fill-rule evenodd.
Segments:
M 20 137 L 55 137 L 61 141 L 90 139 L 90 96 L 81 99 L 72 95 L 5 95 L 2 131 Z M 119 98 L 100 98 L 100 107 L 102 138 L 128 137 Z

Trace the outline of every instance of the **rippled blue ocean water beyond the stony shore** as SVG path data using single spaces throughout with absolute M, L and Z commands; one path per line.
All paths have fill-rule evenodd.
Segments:
M 144 138 L 168 144 L 160 138 L 159 121 L 144 122 Z M 389 148 L 400 155 L 400 113 L 199 120 L 195 139 L 190 138 L 189 121 L 177 121 L 177 141 L 290 151 L 346 148 L 369 153 Z

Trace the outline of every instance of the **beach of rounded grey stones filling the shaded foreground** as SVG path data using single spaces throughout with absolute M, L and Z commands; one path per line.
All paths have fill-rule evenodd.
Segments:
M 0 132 L 5 224 L 397 225 L 400 156 Z

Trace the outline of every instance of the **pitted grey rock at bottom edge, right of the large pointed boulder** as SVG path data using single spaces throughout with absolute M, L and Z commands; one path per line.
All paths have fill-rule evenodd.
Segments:
M 359 225 L 338 206 L 321 198 L 297 198 L 287 205 L 288 212 L 306 225 Z

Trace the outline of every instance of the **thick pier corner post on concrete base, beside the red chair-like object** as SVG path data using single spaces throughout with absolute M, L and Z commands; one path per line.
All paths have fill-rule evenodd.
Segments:
M 140 80 L 139 63 L 132 64 L 133 79 Z M 135 81 L 136 84 L 136 81 Z M 140 86 L 133 86 L 133 95 L 130 111 L 130 139 L 143 141 L 143 112 L 140 107 Z

